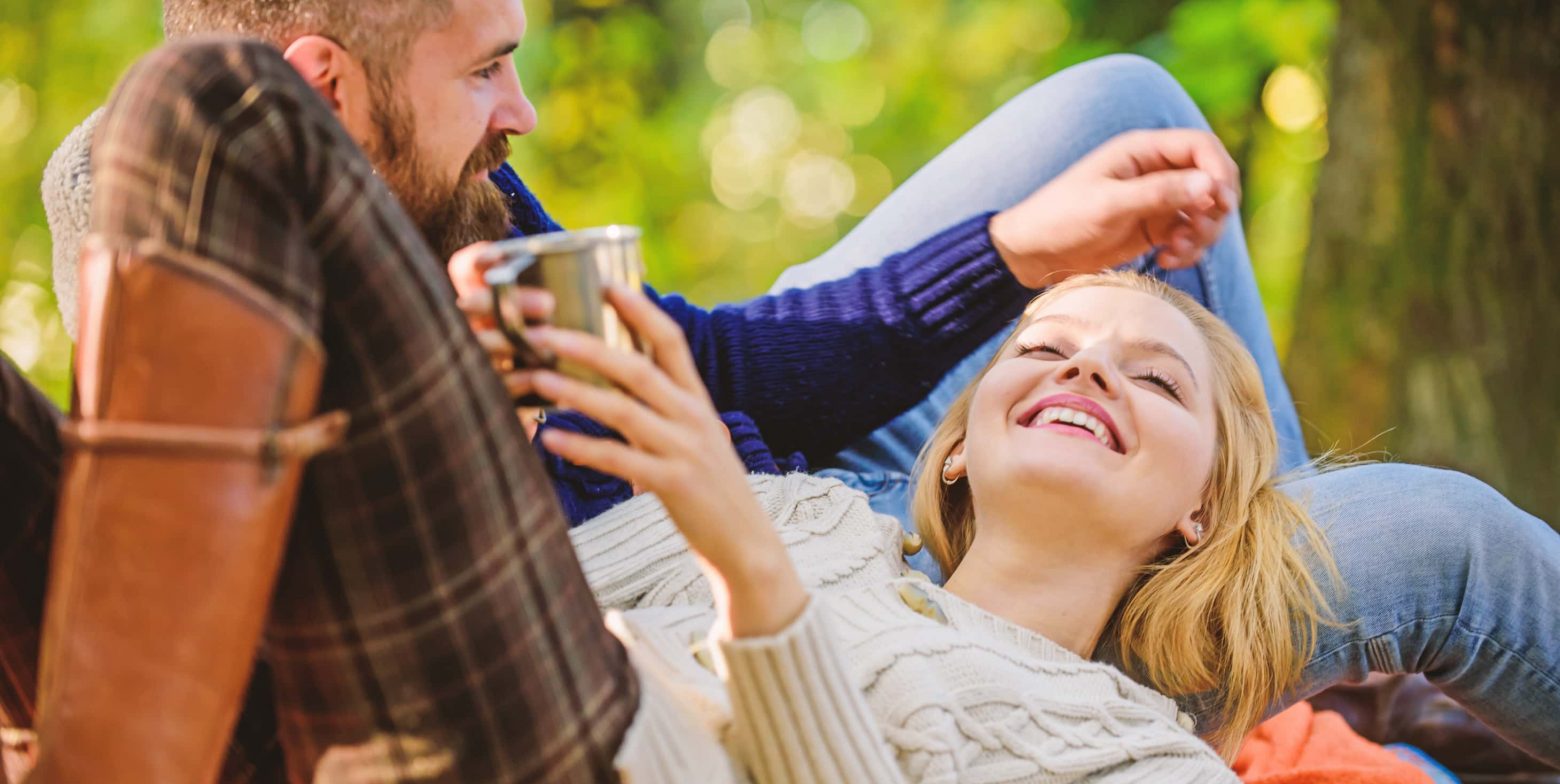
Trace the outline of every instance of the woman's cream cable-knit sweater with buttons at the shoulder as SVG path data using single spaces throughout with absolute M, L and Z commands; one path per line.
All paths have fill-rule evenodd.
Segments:
M 626 781 L 1236 781 L 1170 698 L 905 577 L 860 493 L 752 486 L 813 591 L 772 637 L 705 645 L 708 584 L 655 497 L 571 533 L 641 675 Z

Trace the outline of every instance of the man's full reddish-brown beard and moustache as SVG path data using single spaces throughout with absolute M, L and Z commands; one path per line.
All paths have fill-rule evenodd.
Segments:
M 509 159 L 509 137 L 496 134 L 471 153 L 460 179 L 448 182 L 418 154 L 409 101 L 392 79 L 371 79 L 378 139 L 365 145 L 368 159 L 440 259 L 477 243 L 509 237 L 509 200 L 487 175 Z

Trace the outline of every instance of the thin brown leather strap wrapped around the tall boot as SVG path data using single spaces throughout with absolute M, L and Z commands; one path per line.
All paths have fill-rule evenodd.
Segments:
M 61 440 L 69 449 L 94 452 L 307 460 L 342 443 L 348 424 L 346 411 L 331 411 L 282 430 L 87 419 L 66 422 Z

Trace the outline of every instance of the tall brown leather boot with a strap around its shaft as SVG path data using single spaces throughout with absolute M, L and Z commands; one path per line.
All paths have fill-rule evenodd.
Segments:
M 222 765 L 303 463 L 323 351 L 214 263 L 89 242 L 66 429 L 34 782 L 209 782 Z

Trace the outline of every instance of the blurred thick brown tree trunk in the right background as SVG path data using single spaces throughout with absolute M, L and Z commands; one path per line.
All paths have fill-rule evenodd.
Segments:
M 1560 3 L 1338 6 L 1287 373 L 1312 450 L 1457 468 L 1560 527 Z

